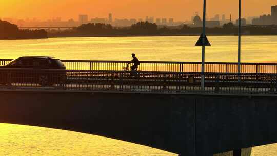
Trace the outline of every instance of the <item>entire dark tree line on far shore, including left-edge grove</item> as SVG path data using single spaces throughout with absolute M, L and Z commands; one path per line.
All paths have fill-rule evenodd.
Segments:
M 14 24 L 0 20 L 0 39 L 86 37 L 86 36 L 147 36 L 147 35 L 200 35 L 202 27 L 158 27 L 155 23 L 138 22 L 130 27 L 116 28 L 110 24 L 89 23 L 66 30 L 21 30 Z M 206 28 L 207 35 L 237 35 L 238 26 L 233 23 L 222 27 Z M 277 26 L 243 26 L 242 35 L 277 35 Z

